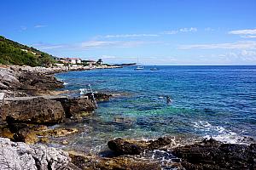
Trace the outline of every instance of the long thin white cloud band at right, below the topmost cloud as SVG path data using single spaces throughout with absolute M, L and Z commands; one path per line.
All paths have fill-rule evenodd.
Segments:
M 256 48 L 256 42 L 254 41 L 239 41 L 231 43 L 207 43 L 207 44 L 189 44 L 181 45 L 180 49 L 191 49 L 191 48 L 201 48 L 201 49 L 214 49 L 214 48 L 228 48 L 228 49 L 254 49 Z

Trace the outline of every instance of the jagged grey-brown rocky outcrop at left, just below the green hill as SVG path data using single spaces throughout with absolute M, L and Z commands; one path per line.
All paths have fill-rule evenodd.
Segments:
M 0 91 L 4 90 L 8 96 L 19 93 L 24 96 L 25 94 L 33 95 L 42 91 L 45 93 L 45 90 L 64 87 L 63 82 L 58 81 L 53 76 L 43 74 L 44 71 L 30 71 L 22 68 L 19 66 L 0 68 Z

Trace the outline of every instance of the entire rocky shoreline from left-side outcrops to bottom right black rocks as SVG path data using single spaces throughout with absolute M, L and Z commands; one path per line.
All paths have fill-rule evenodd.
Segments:
M 50 137 L 79 132 L 50 125 L 76 122 L 96 109 L 91 94 L 75 99 L 44 98 L 64 87 L 51 75 L 59 71 L 67 70 L 0 66 L 0 93 L 5 97 L 40 95 L 0 105 L 0 169 L 256 169 L 256 144 L 224 144 L 214 139 L 188 145 L 177 145 L 172 137 L 113 139 L 108 142 L 108 153 L 100 156 L 48 147 L 44 143 Z M 98 101 L 109 98 L 110 94 L 96 94 Z

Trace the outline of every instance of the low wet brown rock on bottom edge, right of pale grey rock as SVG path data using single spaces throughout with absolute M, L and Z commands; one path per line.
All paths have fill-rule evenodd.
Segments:
M 102 169 L 102 170 L 160 170 L 159 162 L 137 161 L 128 157 L 102 158 L 99 156 L 84 156 L 70 152 L 74 165 L 81 169 Z

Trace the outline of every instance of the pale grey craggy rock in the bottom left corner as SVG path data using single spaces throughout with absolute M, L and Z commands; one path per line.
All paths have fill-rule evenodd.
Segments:
M 41 144 L 14 143 L 0 138 L 0 169 L 76 169 L 67 152 Z M 78 169 L 78 168 L 77 168 Z

